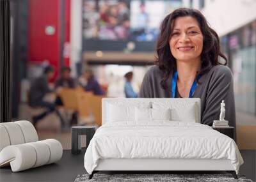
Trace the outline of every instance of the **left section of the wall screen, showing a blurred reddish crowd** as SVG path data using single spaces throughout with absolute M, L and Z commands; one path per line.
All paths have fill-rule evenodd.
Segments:
M 124 1 L 84 1 L 86 39 L 125 40 L 130 29 L 129 4 Z

